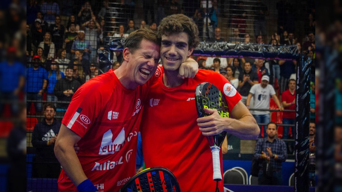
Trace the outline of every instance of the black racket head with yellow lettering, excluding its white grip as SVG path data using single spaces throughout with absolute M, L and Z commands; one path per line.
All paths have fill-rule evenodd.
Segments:
M 210 115 L 203 110 L 204 108 L 216 109 L 221 117 L 229 116 L 228 105 L 224 95 L 219 88 L 211 83 L 204 82 L 197 85 L 195 101 L 199 118 Z M 226 134 L 227 132 L 222 132 L 219 135 L 207 137 L 209 145 L 221 147 Z

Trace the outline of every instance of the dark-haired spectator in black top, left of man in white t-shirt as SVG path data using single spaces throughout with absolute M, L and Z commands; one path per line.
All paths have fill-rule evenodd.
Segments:
M 252 72 L 252 67 L 249 62 L 245 63 L 244 71 L 239 75 L 239 93 L 242 96 L 241 102 L 246 105 L 247 96 L 249 94 L 249 90 L 254 84 L 258 83 L 258 74 Z

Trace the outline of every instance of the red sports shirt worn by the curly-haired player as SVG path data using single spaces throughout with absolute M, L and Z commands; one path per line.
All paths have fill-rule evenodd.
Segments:
M 160 75 L 150 86 L 140 129 L 146 167 L 170 169 L 185 192 L 216 188 L 209 143 L 196 122 L 195 88 L 202 82 L 213 83 L 225 93 L 229 111 L 241 99 L 228 80 L 214 71 L 200 69 L 194 79 L 171 88 L 163 84 Z M 220 156 L 222 172 L 222 153 Z M 223 191 L 222 181 L 219 187 Z

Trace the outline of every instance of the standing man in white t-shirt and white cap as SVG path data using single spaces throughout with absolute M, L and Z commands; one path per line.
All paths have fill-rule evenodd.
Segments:
M 261 83 L 255 84 L 251 87 L 247 101 L 246 106 L 249 109 L 249 104 L 251 101 L 251 98 L 254 99 L 254 109 L 269 109 L 269 101 L 272 97 L 272 99 L 275 101 L 277 106 L 279 107 L 280 111 L 283 111 L 284 108 L 279 102 L 278 97 L 276 96 L 276 92 L 274 91 L 274 88 L 272 85 L 269 85 L 269 77 L 264 75 L 261 78 Z M 268 124 L 271 121 L 271 116 L 269 114 L 268 110 L 263 111 L 253 111 L 253 116 L 255 120 L 257 120 L 257 123 L 264 123 Z M 261 126 L 259 125 L 260 129 Z M 266 137 L 266 129 L 264 128 L 264 137 Z M 259 134 L 259 138 L 261 138 L 261 133 Z

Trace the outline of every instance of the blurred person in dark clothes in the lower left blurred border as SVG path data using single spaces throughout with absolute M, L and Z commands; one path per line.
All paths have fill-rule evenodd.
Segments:
M 19 110 L 18 124 L 12 128 L 6 141 L 9 157 L 7 191 L 26 191 L 26 107 Z M 2 168 L 3 170 L 3 168 Z

